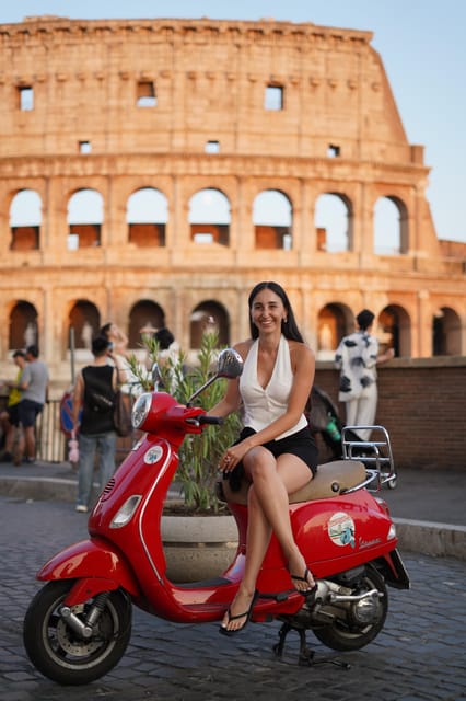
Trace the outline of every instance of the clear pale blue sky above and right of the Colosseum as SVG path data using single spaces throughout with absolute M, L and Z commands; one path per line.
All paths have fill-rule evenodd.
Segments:
M 2 2 L 0 23 L 37 14 L 273 18 L 373 32 L 408 140 L 426 147 L 436 233 L 466 242 L 466 0 L 19 0 Z

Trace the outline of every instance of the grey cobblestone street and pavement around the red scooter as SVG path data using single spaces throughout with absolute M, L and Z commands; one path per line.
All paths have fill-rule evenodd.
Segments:
M 217 625 L 179 625 L 135 610 L 131 642 L 102 680 L 62 688 L 39 675 L 25 656 L 22 621 L 40 586 L 37 568 L 56 551 L 86 537 L 86 517 L 72 508 L 77 473 L 67 463 L 13 468 L 0 464 L 0 699 L 46 701 L 466 701 L 466 559 L 431 558 L 435 532 L 466 533 L 465 473 L 409 471 L 396 490 L 382 492 L 392 514 L 422 535 L 417 554 L 401 547 L 411 589 L 389 589 L 389 611 L 378 637 L 361 652 L 337 654 L 308 633 L 317 662 L 296 664 L 298 636 L 283 659 L 272 646 L 279 623 L 252 624 L 234 640 Z M 415 520 L 412 520 L 415 519 Z M 423 554 L 421 554 L 423 553 Z

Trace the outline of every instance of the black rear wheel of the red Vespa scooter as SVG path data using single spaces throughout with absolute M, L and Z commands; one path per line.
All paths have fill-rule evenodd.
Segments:
M 382 597 L 374 605 L 370 616 L 365 613 L 369 618 L 365 623 L 358 622 L 358 618 L 361 617 L 351 609 L 353 605 L 345 604 L 346 618 L 337 617 L 331 624 L 314 629 L 314 635 L 327 647 L 340 652 L 361 650 L 373 641 L 384 627 L 388 610 L 388 595 L 383 576 L 375 567 L 366 565 L 354 594 L 363 594 L 371 589 L 377 589 Z

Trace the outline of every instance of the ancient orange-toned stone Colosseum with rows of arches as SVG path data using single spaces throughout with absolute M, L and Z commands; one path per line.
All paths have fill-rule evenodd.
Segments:
M 0 25 L 0 376 L 56 383 L 112 320 L 139 348 L 248 334 L 281 283 L 317 358 L 356 313 L 404 357 L 466 354 L 466 244 L 436 237 L 372 33 L 261 20 Z M 72 333 L 70 333 L 72 330 Z

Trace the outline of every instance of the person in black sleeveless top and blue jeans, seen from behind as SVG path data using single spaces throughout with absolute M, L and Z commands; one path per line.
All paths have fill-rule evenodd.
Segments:
M 120 356 L 113 353 L 105 336 L 92 340 L 94 361 L 77 376 L 73 391 L 73 435 L 79 437 L 78 499 L 75 510 L 86 513 L 92 497 L 95 456 L 100 460 L 100 486 L 115 472 L 117 435 L 114 400 L 118 389 Z M 109 365 L 108 358 L 115 364 Z M 80 413 L 81 412 L 81 413 Z

